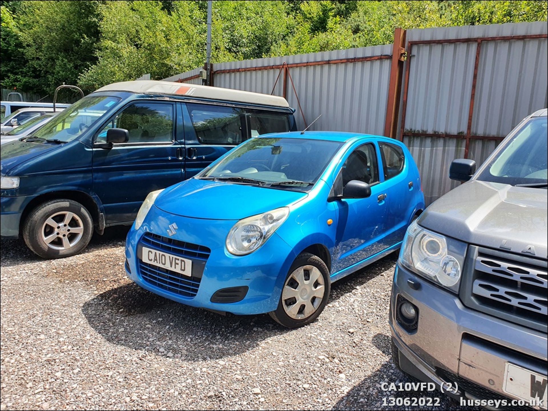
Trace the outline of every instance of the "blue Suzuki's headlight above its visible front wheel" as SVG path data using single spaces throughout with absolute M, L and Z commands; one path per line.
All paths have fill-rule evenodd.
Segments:
M 288 207 L 243 218 L 234 224 L 226 236 L 226 248 L 231 254 L 243 256 L 252 253 L 270 238 L 274 231 L 286 221 Z

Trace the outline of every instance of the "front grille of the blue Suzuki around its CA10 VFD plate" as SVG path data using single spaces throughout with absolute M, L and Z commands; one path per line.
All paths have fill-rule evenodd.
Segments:
M 190 242 L 175 240 L 158 234 L 145 233 L 139 243 L 142 246 L 184 257 L 192 261 L 192 276 L 148 264 L 139 259 L 139 272 L 142 279 L 162 290 L 185 298 L 193 298 L 198 293 L 202 273 L 211 250 L 208 247 Z M 140 251 L 139 251 L 140 253 Z

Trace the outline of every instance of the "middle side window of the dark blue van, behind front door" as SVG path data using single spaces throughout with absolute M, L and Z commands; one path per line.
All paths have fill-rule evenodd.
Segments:
M 243 141 L 242 120 L 236 109 L 190 103 L 186 106 L 200 144 L 237 146 Z

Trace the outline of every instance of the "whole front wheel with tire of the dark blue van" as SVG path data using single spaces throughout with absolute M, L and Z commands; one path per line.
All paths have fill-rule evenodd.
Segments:
M 25 244 L 38 256 L 71 257 L 84 250 L 92 239 L 93 219 L 79 202 L 51 200 L 30 212 L 22 231 Z

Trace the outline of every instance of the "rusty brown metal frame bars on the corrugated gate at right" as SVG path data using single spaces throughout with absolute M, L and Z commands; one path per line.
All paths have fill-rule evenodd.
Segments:
M 406 74 L 404 78 L 404 85 L 403 85 L 403 101 L 402 101 L 402 123 L 401 123 L 401 130 L 399 134 L 399 140 L 403 141 L 403 137 L 405 136 L 419 136 L 419 137 L 448 137 L 448 138 L 465 138 L 466 144 L 464 148 L 464 157 L 468 158 L 468 151 L 470 147 L 470 140 L 472 138 L 478 138 L 483 140 L 503 140 L 504 137 L 500 136 L 478 136 L 472 134 L 472 115 L 474 110 L 474 98 L 476 96 L 476 81 L 477 81 L 477 74 L 478 74 L 478 66 L 479 66 L 479 56 L 481 51 L 481 43 L 482 42 L 494 42 L 494 41 L 500 41 L 500 40 L 525 40 L 525 39 L 534 39 L 534 38 L 547 38 L 547 34 L 524 34 L 523 36 L 496 36 L 496 37 L 469 37 L 469 38 L 454 38 L 454 39 L 438 39 L 438 40 L 416 40 L 416 41 L 409 41 L 407 42 L 407 66 L 406 66 Z M 474 62 L 474 73 L 472 77 L 472 91 L 470 93 L 470 106 L 468 111 L 468 125 L 466 128 L 466 134 L 436 134 L 436 133 L 421 133 L 421 132 L 406 132 L 405 131 L 405 124 L 406 124 L 406 111 L 407 111 L 407 96 L 409 91 L 409 67 L 411 66 L 411 49 L 414 44 L 443 44 L 443 43 L 472 43 L 476 42 L 476 60 Z

